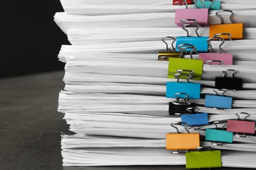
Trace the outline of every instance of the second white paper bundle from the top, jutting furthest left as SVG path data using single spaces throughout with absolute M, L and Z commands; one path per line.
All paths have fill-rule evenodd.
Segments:
M 215 16 L 216 11 L 209 12 L 209 24 L 220 24 Z M 234 21 L 244 23 L 244 27 L 256 27 L 251 20 L 256 15 L 256 10 L 234 10 Z M 228 22 L 229 14 L 223 15 L 223 20 Z M 68 29 L 83 29 L 94 27 L 177 27 L 175 12 L 147 12 L 113 15 L 77 15 L 57 12 L 54 16 L 56 24 L 68 33 Z

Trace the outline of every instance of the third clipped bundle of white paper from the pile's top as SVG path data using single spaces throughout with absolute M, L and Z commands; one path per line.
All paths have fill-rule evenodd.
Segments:
M 193 28 L 187 28 L 190 36 L 196 36 Z M 179 27 L 122 27 L 122 28 L 85 28 L 69 29 L 68 41 L 73 45 L 104 44 L 111 42 L 159 41 L 166 35 L 172 37 L 186 36 L 186 31 Z M 209 36 L 209 27 L 198 29 L 202 37 Z M 255 27 L 244 28 L 244 39 L 256 39 Z M 164 46 L 164 44 L 163 44 Z M 223 49 L 224 50 L 224 49 Z

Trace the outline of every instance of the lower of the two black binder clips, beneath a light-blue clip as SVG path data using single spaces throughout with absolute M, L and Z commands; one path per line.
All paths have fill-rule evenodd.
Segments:
M 185 95 L 183 97 L 184 101 L 181 101 L 180 99 L 182 97 L 179 96 Z M 190 103 L 188 102 L 188 94 L 187 93 L 176 93 L 175 94 L 176 101 L 169 102 L 169 115 L 181 115 L 181 114 L 186 114 L 188 113 L 188 108 L 196 107 L 196 103 Z

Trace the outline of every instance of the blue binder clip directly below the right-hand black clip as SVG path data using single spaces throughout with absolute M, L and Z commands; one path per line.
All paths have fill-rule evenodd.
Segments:
M 217 91 L 223 91 L 222 95 L 217 95 Z M 205 107 L 221 110 L 232 108 L 232 97 L 224 96 L 227 90 L 213 90 L 213 92 L 215 92 L 215 95 L 205 95 Z

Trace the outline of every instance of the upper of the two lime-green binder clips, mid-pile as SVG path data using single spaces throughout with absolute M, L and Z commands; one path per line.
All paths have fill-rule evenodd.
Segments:
M 183 58 L 183 51 L 187 52 L 186 49 L 192 48 L 190 51 L 190 59 Z M 168 78 L 175 78 L 177 70 L 182 71 L 193 71 L 194 80 L 200 80 L 203 73 L 203 60 L 193 59 L 192 53 L 196 50 L 196 47 L 191 44 L 181 44 L 179 45 L 181 50 L 180 58 L 169 58 L 168 66 Z M 187 76 L 180 75 L 179 78 L 187 78 Z

